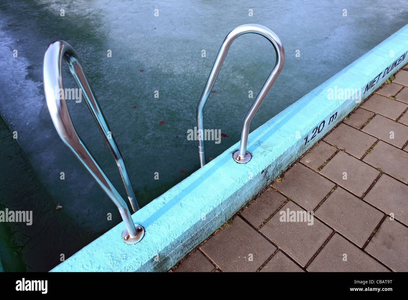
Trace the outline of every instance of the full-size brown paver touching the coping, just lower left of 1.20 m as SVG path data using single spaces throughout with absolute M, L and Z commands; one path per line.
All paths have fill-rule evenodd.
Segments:
M 297 163 L 285 173 L 281 182 L 275 181 L 273 186 L 311 211 L 335 187 L 335 184 Z

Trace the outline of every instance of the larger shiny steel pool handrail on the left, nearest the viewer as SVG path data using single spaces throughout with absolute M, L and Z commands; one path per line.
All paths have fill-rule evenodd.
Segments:
M 76 84 L 82 89 L 82 95 L 85 98 L 85 102 L 89 107 L 96 124 L 98 124 L 98 128 L 102 132 L 102 136 L 106 140 L 106 143 L 115 158 L 116 164 L 118 165 L 131 207 L 133 211 L 137 211 L 139 206 L 137 205 L 135 193 L 133 192 L 122 155 L 120 154 L 92 88 L 89 85 L 88 78 L 84 73 L 78 55 L 70 44 L 61 40 L 49 44 L 44 54 L 44 93 L 51 119 L 62 141 L 69 147 L 69 149 L 71 149 L 85 169 L 91 174 L 96 182 L 98 182 L 106 195 L 108 195 L 116 207 L 118 207 L 126 226 L 126 230 L 122 233 L 122 237 L 128 244 L 134 244 L 142 239 L 144 235 L 143 227 L 139 224 L 133 223 L 125 200 L 120 196 L 120 193 L 115 189 L 112 182 L 106 176 L 104 171 L 102 171 L 75 131 L 71 117 L 69 116 L 67 102 L 65 101 L 65 93 L 58 93 L 58 91 L 64 91 L 64 85 L 62 83 L 62 60 L 67 63 L 69 71 L 71 71 Z

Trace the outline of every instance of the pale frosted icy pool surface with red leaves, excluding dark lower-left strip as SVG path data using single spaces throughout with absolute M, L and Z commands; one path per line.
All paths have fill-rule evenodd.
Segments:
M 281 38 L 286 50 L 285 67 L 251 122 L 253 131 L 404 26 L 408 6 L 404 2 L 383 7 L 381 2 L 346 1 L 333 6 L 259 1 L 249 7 L 235 1 L 231 7 L 216 2 L 189 2 L 184 7 L 176 2 L 136 5 L 124 1 L 112 9 L 107 1 L 67 2 L 61 17 L 61 4 L 56 3 L 1 7 L 5 21 L 0 47 L 4 52 L 20 50 L 18 60 L 2 58 L 2 78 L 13 84 L 2 84 L 0 112 L 11 131 L 19 132 L 20 147 L 50 198 L 55 205 L 61 204 L 62 209 L 55 211 L 62 211 L 84 232 L 93 232 L 93 238 L 118 224 L 120 216 L 60 142 L 44 106 L 41 63 L 49 42 L 67 40 L 80 55 L 115 131 L 136 197 L 144 206 L 199 167 L 197 142 L 187 140 L 186 133 L 195 126 L 197 101 L 231 29 L 245 23 L 262 24 Z M 253 16 L 248 15 L 249 9 Z M 277 11 L 279 18 L 275 18 Z M 25 24 L 21 20 L 27 20 L 22 18 L 27 15 Z M 108 50 L 112 57 L 107 56 Z M 249 91 L 256 96 L 274 61 L 273 49 L 261 37 L 247 35 L 234 42 L 204 109 L 206 127 L 220 129 L 225 136 L 219 144 L 206 142 L 207 161 L 239 140 L 242 119 L 253 100 L 248 98 Z M 64 84 L 75 87 L 67 70 Z M 68 105 L 80 136 L 121 189 L 109 149 L 84 103 Z M 64 180 L 60 180 L 61 171 L 66 174 Z M 112 213 L 112 221 L 107 220 L 107 213 Z M 87 242 L 74 244 L 71 252 Z

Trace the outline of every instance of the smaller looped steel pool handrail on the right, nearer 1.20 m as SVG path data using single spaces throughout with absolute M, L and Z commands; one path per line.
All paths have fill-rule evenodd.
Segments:
M 271 44 L 275 48 L 276 62 L 275 62 L 275 66 L 273 67 L 272 72 L 269 74 L 268 78 L 266 79 L 257 97 L 252 103 L 248 113 L 246 113 L 244 122 L 242 123 L 241 143 L 239 144 L 239 150 L 235 151 L 235 153 L 233 154 L 233 158 L 236 162 L 245 163 L 251 160 L 251 153 L 246 151 L 246 146 L 248 143 L 249 123 L 251 122 L 253 116 L 255 115 L 256 111 L 258 110 L 259 106 L 264 100 L 266 94 L 271 89 L 276 78 L 279 76 L 279 73 L 282 71 L 282 68 L 285 62 L 285 50 L 283 48 L 282 42 L 277 37 L 277 35 L 270 29 L 262 25 L 258 25 L 258 24 L 245 24 L 245 25 L 236 27 L 230 33 L 228 33 L 224 42 L 222 42 L 221 44 L 221 48 L 218 51 L 217 58 L 215 58 L 213 68 L 211 69 L 211 73 L 208 76 L 206 85 L 201 94 L 200 100 L 198 101 L 198 104 L 197 104 L 197 129 L 198 129 L 198 134 L 199 134 L 198 151 L 200 154 L 200 166 L 201 167 L 203 167 L 206 163 L 205 162 L 204 136 L 201 134 L 201 133 L 204 133 L 203 108 L 208 99 L 208 96 L 211 93 L 211 90 L 213 89 L 215 79 L 217 78 L 218 72 L 220 71 L 222 62 L 224 62 L 224 58 L 228 52 L 229 47 L 231 46 L 231 43 L 237 37 L 245 33 L 256 33 L 256 34 L 259 34 L 267 38 L 269 42 L 271 42 Z

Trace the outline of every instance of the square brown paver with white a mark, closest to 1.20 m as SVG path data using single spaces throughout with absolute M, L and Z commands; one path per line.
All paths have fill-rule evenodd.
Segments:
M 320 173 L 359 197 L 380 174 L 378 170 L 343 151 L 337 152 Z

